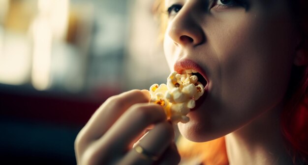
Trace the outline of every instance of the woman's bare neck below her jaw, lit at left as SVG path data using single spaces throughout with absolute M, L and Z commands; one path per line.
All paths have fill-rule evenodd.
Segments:
M 280 132 L 281 107 L 226 135 L 230 165 L 293 165 Z

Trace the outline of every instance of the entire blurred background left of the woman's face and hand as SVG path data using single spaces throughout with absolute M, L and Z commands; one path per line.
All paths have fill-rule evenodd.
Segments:
M 0 0 L 0 165 L 75 165 L 111 95 L 165 83 L 154 0 Z

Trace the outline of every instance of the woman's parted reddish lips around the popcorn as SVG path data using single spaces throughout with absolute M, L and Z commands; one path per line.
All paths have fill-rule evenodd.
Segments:
M 177 61 L 174 65 L 174 71 L 178 73 L 183 73 L 184 71 L 192 70 L 193 72 L 196 71 L 196 73 L 193 73 L 194 75 L 197 75 L 198 81 L 202 83 L 204 86 L 204 94 L 196 101 L 196 106 L 191 109 L 191 111 L 194 111 L 200 107 L 202 102 L 206 99 L 208 95 L 209 90 L 209 79 L 207 77 L 206 72 L 198 65 L 196 62 L 189 60 L 189 59 L 183 59 L 180 61 Z

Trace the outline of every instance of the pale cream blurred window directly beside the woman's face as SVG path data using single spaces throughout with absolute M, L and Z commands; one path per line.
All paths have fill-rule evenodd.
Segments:
M 159 26 L 154 21 L 153 3 L 154 0 L 136 0 L 130 8 L 124 65 L 128 89 L 149 89 L 154 83 L 166 83 L 170 73 L 159 41 Z

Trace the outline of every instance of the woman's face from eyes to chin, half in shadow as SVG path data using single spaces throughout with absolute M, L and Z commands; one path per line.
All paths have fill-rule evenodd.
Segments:
M 171 70 L 194 69 L 207 80 L 190 121 L 179 124 L 186 138 L 223 136 L 282 102 L 298 43 L 288 0 L 166 0 L 165 6 Z

